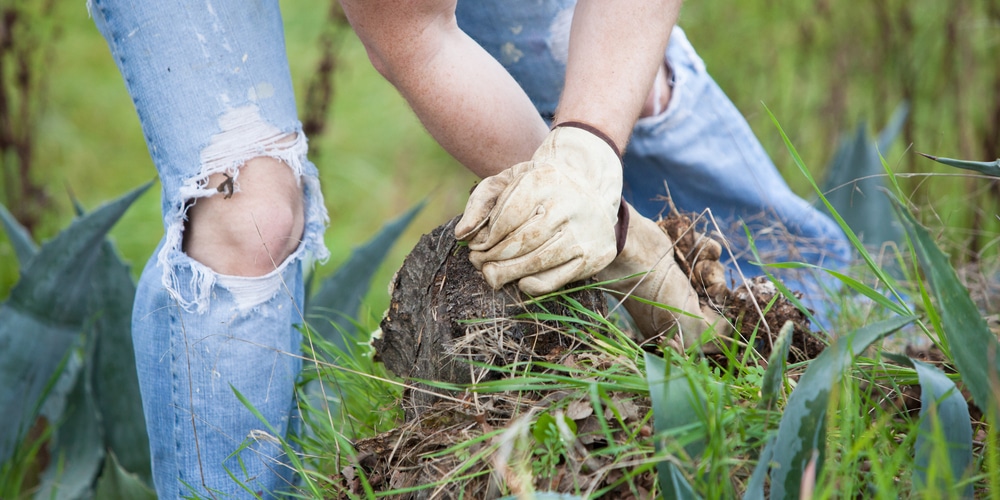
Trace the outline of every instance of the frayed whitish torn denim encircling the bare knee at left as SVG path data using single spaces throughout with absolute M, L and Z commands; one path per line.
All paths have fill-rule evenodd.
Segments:
M 318 172 L 306 157 L 308 145 L 302 131 L 275 127 L 260 116 L 260 110 L 255 105 L 226 112 L 219 118 L 219 128 L 221 131 L 212 136 L 201 151 L 198 174 L 184 181 L 172 203 L 174 208 L 165 214 L 166 236 L 156 257 L 163 270 L 164 288 L 189 312 L 203 313 L 208 310 L 216 284 L 230 291 L 241 312 L 249 311 L 282 291 L 283 271 L 290 262 L 303 259 L 307 254 L 316 261 L 324 262 L 330 255 L 323 243 L 323 231 L 329 217 L 319 188 Z M 274 271 L 264 276 L 246 278 L 218 274 L 183 252 L 187 210 L 199 198 L 239 192 L 240 167 L 259 157 L 280 160 L 292 169 L 302 186 L 305 197 L 302 242 Z M 223 189 L 209 185 L 209 177 L 213 174 L 227 177 Z M 188 271 L 184 274 L 190 274 L 186 283 L 182 283 L 179 276 L 179 271 L 184 268 Z

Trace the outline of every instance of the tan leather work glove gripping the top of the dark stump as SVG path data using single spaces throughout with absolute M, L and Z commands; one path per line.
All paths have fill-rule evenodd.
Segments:
M 469 196 L 455 237 L 500 288 L 541 295 L 589 278 L 618 253 L 621 156 L 600 132 L 560 124 L 531 161 L 484 179 Z M 600 134 L 600 135 L 598 135 Z

